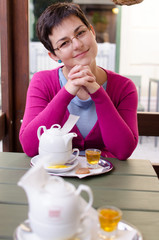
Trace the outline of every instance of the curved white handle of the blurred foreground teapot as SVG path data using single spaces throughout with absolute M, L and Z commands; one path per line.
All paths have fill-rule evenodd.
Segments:
M 93 193 L 92 193 L 91 188 L 86 185 L 81 184 L 81 185 L 79 185 L 78 189 L 76 190 L 76 194 L 80 195 L 80 193 L 82 191 L 85 191 L 88 194 L 89 201 L 88 201 L 88 204 L 86 205 L 86 207 L 84 208 L 81 218 L 83 218 L 85 216 L 85 214 L 87 213 L 87 211 L 90 209 L 90 207 L 93 204 Z

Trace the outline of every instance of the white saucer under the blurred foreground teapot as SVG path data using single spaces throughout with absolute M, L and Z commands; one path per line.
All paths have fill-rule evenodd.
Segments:
M 91 220 L 89 218 L 84 220 L 85 223 L 81 224 L 79 226 L 79 231 L 80 233 L 71 238 L 70 240 L 92 240 L 91 236 L 91 231 L 90 231 L 90 225 L 91 225 Z M 29 220 L 24 221 L 29 222 Z M 23 223 L 22 223 L 23 224 Z M 27 232 L 22 229 L 21 224 L 16 228 L 14 234 L 13 234 L 13 239 L 14 240 L 44 240 L 39 238 L 35 233 L 33 232 Z

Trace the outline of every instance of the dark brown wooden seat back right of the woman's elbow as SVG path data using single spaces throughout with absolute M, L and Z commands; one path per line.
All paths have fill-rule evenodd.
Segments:
M 159 112 L 138 112 L 137 117 L 139 136 L 159 136 Z M 153 168 L 159 177 L 159 163 L 153 164 Z

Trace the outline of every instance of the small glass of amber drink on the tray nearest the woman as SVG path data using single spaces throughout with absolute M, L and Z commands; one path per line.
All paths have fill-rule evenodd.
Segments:
M 89 167 L 96 168 L 101 156 L 101 151 L 99 149 L 90 148 L 85 150 L 85 156 Z

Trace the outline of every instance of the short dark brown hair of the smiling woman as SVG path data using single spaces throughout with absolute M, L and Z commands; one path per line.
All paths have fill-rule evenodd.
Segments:
M 58 2 L 50 5 L 45 9 L 37 21 L 37 36 L 45 48 L 53 54 L 55 54 L 55 52 L 50 42 L 49 35 L 51 35 L 52 29 L 55 26 L 58 26 L 63 19 L 71 15 L 80 18 L 80 20 L 90 29 L 90 23 L 80 6 L 69 2 Z

